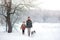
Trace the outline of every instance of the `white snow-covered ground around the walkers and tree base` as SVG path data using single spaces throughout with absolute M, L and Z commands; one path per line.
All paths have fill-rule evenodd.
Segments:
M 31 31 L 35 30 L 36 33 L 30 37 L 22 35 L 21 24 L 16 24 L 12 33 L 5 32 L 5 27 L 0 26 L 0 40 L 60 40 L 60 23 L 33 23 Z

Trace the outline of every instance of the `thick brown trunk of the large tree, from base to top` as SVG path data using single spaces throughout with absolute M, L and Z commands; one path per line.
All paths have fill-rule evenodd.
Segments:
M 12 3 L 12 1 L 8 0 L 7 6 L 6 6 L 6 8 L 7 8 L 6 22 L 7 22 L 7 25 L 8 25 L 8 33 L 12 32 L 12 25 L 11 25 L 11 20 L 10 20 L 11 3 Z

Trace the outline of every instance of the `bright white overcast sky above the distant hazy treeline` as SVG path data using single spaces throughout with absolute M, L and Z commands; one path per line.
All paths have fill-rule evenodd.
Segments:
M 41 7 L 42 9 L 48 9 L 48 10 L 60 10 L 60 0 L 38 0 L 41 1 Z

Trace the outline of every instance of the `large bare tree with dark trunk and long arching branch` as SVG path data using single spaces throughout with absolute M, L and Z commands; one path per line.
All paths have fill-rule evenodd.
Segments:
M 8 26 L 8 33 L 11 33 L 12 32 L 11 15 L 14 15 L 15 14 L 15 11 L 17 10 L 17 8 L 19 6 L 21 6 L 21 5 L 22 5 L 21 8 L 29 8 L 29 7 L 31 7 L 31 4 L 30 3 L 31 2 L 26 3 L 26 1 L 24 1 L 24 3 L 18 4 L 14 8 L 13 12 L 11 12 L 12 11 L 12 0 L 4 0 L 4 4 L 1 5 L 4 9 L 2 10 L 2 13 L 0 13 L 0 15 L 2 15 L 3 17 L 5 17 L 6 27 Z M 16 20 L 17 20 L 17 18 L 16 18 Z M 13 24 L 16 22 L 16 20 L 13 22 Z M 6 28 L 6 30 L 7 30 L 7 28 Z

